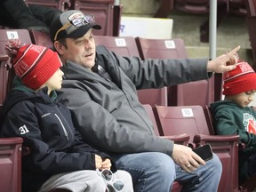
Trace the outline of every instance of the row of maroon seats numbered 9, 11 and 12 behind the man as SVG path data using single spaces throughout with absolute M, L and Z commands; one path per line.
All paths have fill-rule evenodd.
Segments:
M 27 29 L 0 29 L 0 54 L 4 55 L 4 46 L 8 38 L 20 38 L 25 44 L 40 44 L 52 47 L 50 37 L 44 32 Z M 142 60 L 146 59 L 184 59 L 188 58 L 184 41 L 176 39 L 146 39 L 141 37 L 116 37 L 116 36 L 95 36 L 96 44 L 105 45 L 109 51 L 116 52 L 121 56 L 137 56 Z M 3 59 L 4 60 L 4 59 Z M 2 77 L 8 80 L 10 64 L 1 65 Z M 6 78 L 7 77 L 7 78 Z M 3 79 L 3 83 L 6 80 Z M 2 84 L 3 84 L 2 83 Z M 209 105 L 221 98 L 222 77 L 214 74 L 208 80 L 180 84 L 161 89 L 148 89 L 138 91 L 142 104 L 151 106 L 186 106 L 186 105 Z M 6 83 L 1 85 L 2 95 L 0 103 L 3 103 L 6 95 Z M 196 90 L 196 92 L 195 92 Z M 197 94 L 200 92 L 200 94 Z M 150 95 L 150 97 L 148 97 Z

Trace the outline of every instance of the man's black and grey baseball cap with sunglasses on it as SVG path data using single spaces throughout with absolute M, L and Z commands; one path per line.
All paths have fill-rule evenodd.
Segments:
M 50 28 L 50 36 L 52 42 L 64 38 L 80 38 L 90 28 L 100 29 L 99 24 L 94 23 L 93 15 L 84 15 L 83 12 L 77 10 L 68 10 L 60 13 L 52 21 Z

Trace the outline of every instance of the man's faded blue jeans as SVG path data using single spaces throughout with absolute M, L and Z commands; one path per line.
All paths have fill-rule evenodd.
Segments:
M 217 191 L 222 165 L 218 156 L 200 166 L 195 172 L 184 172 L 170 156 L 159 152 L 112 156 L 117 169 L 130 172 L 135 192 L 170 192 L 174 180 L 182 191 Z M 212 172 L 214 171 L 214 172 Z

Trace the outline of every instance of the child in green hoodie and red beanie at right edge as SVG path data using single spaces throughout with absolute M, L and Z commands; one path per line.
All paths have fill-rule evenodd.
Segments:
M 256 112 L 248 105 L 256 92 L 256 73 L 240 60 L 234 70 L 223 74 L 224 100 L 211 104 L 213 124 L 220 135 L 240 135 L 245 144 L 239 153 L 239 182 L 256 174 Z

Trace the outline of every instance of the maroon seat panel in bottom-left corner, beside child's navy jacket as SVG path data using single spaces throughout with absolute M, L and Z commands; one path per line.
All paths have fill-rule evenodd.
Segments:
M 21 138 L 0 138 L 1 191 L 21 192 Z

